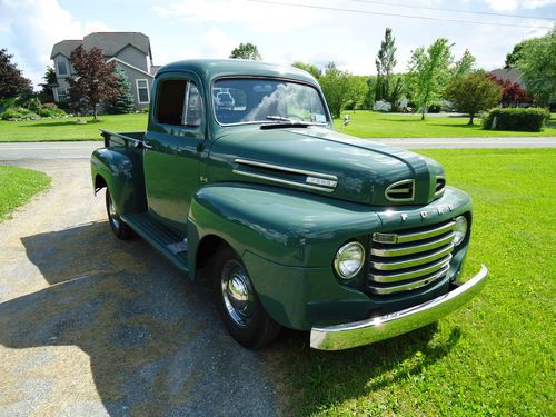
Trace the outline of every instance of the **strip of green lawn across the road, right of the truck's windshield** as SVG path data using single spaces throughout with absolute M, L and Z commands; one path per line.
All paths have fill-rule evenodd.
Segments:
M 336 130 L 360 138 L 467 138 L 507 136 L 556 136 L 556 115 L 553 113 L 549 127 L 540 132 L 483 130 L 479 121 L 467 125 L 465 117 L 427 116 L 424 121 L 419 115 L 388 115 L 375 111 L 346 111 L 351 122 L 344 127 L 336 119 Z M 344 115 L 342 113 L 342 115 Z

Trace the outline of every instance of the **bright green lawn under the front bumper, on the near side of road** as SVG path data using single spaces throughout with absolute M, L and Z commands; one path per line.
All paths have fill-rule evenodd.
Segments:
M 426 150 L 474 198 L 467 275 L 490 281 L 470 305 L 411 334 L 353 350 L 269 351 L 296 415 L 554 415 L 556 149 Z

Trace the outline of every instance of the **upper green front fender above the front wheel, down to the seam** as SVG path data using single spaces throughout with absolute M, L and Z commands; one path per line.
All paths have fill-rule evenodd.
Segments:
M 346 240 L 380 219 L 367 207 L 277 187 L 225 182 L 205 187 L 189 214 L 199 239 L 216 235 L 236 251 L 274 262 L 328 267 Z

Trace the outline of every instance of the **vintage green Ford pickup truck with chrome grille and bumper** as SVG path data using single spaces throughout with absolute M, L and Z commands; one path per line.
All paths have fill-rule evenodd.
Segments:
M 281 327 L 336 350 L 430 324 L 484 287 L 463 282 L 471 200 L 429 158 L 332 130 L 307 72 L 191 60 L 155 79 L 146 132 L 102 132 L 91 157 L 109 225 L 189 278 L 259 348 Z

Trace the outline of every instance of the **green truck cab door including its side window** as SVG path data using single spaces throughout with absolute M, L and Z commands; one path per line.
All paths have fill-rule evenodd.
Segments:
M 183 236 L 191 198 L 199 188 L 205 122 L 198 83 L 182 75 L 159 80 L 145 136 L 147 202 L 150 216 Z

